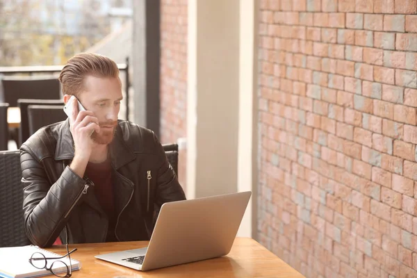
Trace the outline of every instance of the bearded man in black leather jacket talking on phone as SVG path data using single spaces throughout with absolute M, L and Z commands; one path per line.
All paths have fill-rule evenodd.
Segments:
M 37 131 L 22 147 L 23 211 L 35 245 L 149 240 L 159 208 L 185 199 L 152 131 L 117 120 L 113 60 L 78 54 L 60 72 L 64 102 L 86 111 Z

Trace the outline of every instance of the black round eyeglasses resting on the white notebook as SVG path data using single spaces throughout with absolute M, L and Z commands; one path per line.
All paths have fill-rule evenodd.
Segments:
M 56 258 L 47 258 L 44 256 L 44 254 L 36 252 L 32 254 L 31 259 L 29 259 L 29 263 L 31 263 L 31 265 L 33 265 L 35 268 L 49 270 L 53 275 L 57 277 L 71 277 L 72 263 L 71 263 L 70 254 L 73 252 L 76 252 L 76 248 L 73 249 L 71 252 L 69 252 L 67 244 L 65 244 L 65 247 L 67 248 L 67 254 L 65 256 L 58 256 Z M 53 263 L 51 263 L 51 266 L 49 266 L 48 268 L 47 260 L 63 259 L 66 256 L 68 256 L 68 259 L 70 259 L 70 267 L 68 267 L 68 265 L 64 263 L 63 261 L 54 261 Z

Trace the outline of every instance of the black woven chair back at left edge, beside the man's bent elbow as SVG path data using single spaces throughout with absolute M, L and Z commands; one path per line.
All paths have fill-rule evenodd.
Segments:
M 31 244 L 24 231 L 19 151 L 0 152 L 0 247 Z

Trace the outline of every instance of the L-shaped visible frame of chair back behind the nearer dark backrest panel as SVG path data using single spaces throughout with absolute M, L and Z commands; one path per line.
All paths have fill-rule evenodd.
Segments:
M 64 105 L 62 99 L 17 99 L 17 107 L 20 108 L 20 127 L 19 127 L 19 146 L 20 147 L 29 136 L 29 105 Z

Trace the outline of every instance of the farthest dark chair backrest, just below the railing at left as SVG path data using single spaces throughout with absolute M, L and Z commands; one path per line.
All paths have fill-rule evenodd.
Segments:
M 17 99 L 60 99 L 60 83 L 55 77 L 3 76 L 0 102 L 17 106 Z

